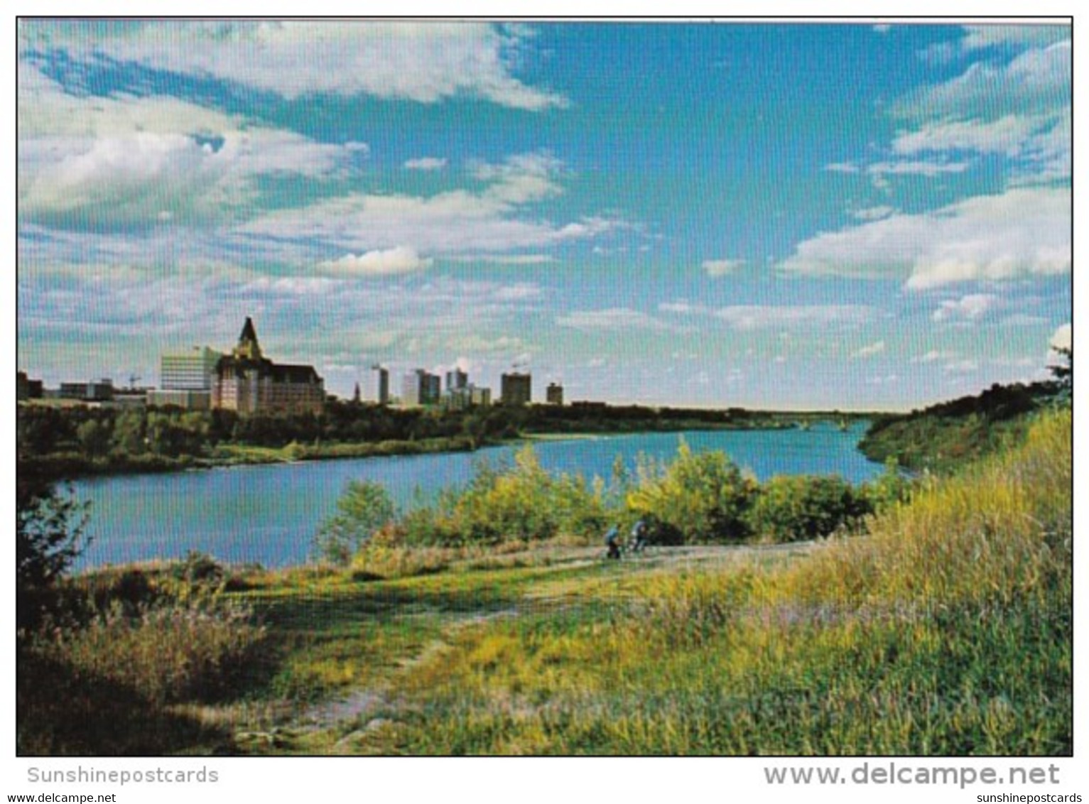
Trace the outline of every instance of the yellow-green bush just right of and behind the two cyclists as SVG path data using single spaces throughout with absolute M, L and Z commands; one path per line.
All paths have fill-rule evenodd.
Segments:
M 682 439 L 664 467 L 640 459 L 627 505 L 654 520 L 659 540 L 737 541 L 749 535 L 746 513 L 756 490 L 756 480 L 725 453 L 695 453 Z

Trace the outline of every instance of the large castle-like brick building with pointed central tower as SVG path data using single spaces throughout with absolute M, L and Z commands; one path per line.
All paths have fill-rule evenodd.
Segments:
M 261 353 L 253 319 L 216 364 L 212 407 L 238 413 L 321 413 L 325 381 L 314 366 L 273 363 Z

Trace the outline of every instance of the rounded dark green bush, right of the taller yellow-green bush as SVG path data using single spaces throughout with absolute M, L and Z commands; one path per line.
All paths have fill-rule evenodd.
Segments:
M 815 539 L 871 513 L 870 502 L 840 477 L 772 477 L 748 512 L 752 532 L 768 541 Z

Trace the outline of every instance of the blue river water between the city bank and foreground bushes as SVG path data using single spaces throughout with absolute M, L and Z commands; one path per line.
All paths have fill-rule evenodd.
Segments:
M 760 479 L 772 475 L 837 474 L 860 483 L 881 473 L 856 446 L 866 429 L 831 424 L 808 430 L 711 430 L 633 434 L 535 443 L 541 465 L 554 472 L 609 478 L 623 455 L 634 471 L 639 453 L 676 454 L 683 437 L 694 451 L 723 450 Z M 285 567 L 304 563 L 314 532 L 335 509 L 348 480 L 381 483 L 402 508 L 465 484 L 480 460 L 510 461 L 517 447 L 474 453 L 313 461 L 262 466 L 126 475 L 75 484 L 89 500 L 93 537 L 77 569 L 171 559 L 197 550 L 229 563 Z

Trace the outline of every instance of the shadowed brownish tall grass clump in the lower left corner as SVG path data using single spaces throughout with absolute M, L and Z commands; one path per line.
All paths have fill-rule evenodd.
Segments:
M 180 703 L 236 695 L 261 667 L 266 628 L 223 596 L 211 559 L 65 582 L 19 635 L 23 753 L 161 753 L 221 740 Z

